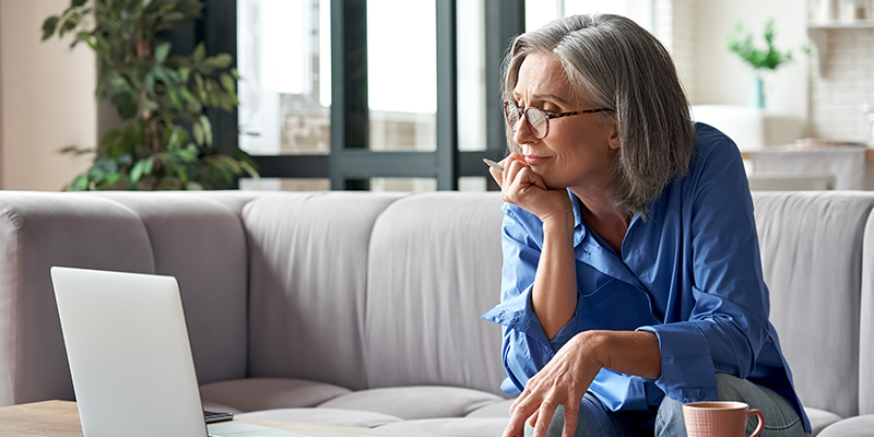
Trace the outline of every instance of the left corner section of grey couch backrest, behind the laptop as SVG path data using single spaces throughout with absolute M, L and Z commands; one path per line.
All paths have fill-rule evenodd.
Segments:
M 0 191 L 0 405 L 73 399 L 52 265 L 176 276 L 200 381 L 244 377 L 246 197 Z

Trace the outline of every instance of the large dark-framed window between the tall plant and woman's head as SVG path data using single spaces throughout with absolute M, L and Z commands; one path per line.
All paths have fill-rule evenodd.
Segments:
M 481 160 L 506 153 L 498 68 L 523 0 L 205 3 L 176 39 L 237 61 L 240 107 L 217 115 L 216 142 L 258 164 L 241 187 L 497 188 Z

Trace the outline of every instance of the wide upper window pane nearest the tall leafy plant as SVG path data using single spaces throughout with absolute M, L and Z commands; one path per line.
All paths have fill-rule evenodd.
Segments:
M 329 0 L 237 0 L 240 149 L 329 153 L 330 12 Z

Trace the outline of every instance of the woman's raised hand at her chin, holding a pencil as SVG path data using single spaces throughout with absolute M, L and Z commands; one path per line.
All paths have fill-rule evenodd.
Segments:
M 501 198 L 536 215 L 541 221 L 567 218 L 572 210 L 570 198 L 564 189 L 550 189 L 543 178 L 534 173 L 524 157 L 513 153 L 499 163 L 504 172 L 489 167 L 488 173 L 500 186 Z

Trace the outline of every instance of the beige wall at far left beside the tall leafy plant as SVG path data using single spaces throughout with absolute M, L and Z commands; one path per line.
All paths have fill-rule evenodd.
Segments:
M 40 43 L 43 21 L 69 0 L 0 0 L 0 188 L 60 190 L 92 156 L 60 155 L 66 145 L 93 147 L 96 61 L 85 45 Z

